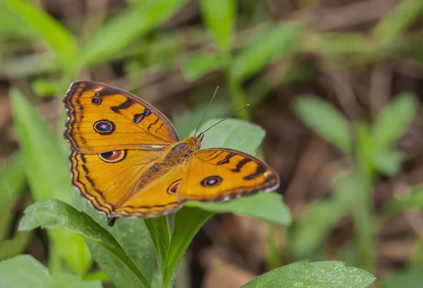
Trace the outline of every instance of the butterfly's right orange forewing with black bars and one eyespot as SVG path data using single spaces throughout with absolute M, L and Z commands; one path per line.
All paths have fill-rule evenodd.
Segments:
M 192 155 L 178 189 L 180 202 L 219 202 L 259 191 L 274 191 L 279 176 L 256 157 L 237 150 L 209 148 Z

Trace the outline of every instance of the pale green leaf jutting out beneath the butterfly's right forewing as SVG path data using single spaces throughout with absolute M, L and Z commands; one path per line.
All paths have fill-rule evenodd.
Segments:
M 289 208 L 278 193 L 257 193 L 222 203 L 192 201 L 185 203 L 185 206 L 198 207 L 215 213 L 230 212 L 281 225 L 288 225 L 291 221 Z

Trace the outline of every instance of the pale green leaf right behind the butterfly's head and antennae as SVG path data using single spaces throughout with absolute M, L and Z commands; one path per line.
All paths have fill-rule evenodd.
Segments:
M 198 131 L 202 132 L 220 120 L 209 119 Z M 194 131 L 191 135 L 194 135 Z M 202 149 L 231 148 L 255 155 L 265 135 L 266 131 L 260 126 L 243 120 L 226 119 L 204 134 Z

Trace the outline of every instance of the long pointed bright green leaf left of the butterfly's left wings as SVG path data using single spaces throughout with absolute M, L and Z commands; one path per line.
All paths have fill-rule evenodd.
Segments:
M 11 90 L 11 107 L 18 133 L 23 168 L 35 200 L 71 202 L 67 155 L 59 149 L 53 131 L 18 90 Z

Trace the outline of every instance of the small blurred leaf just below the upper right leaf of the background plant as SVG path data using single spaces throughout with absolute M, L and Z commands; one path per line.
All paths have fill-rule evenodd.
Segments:
M 403 152 L 400 150 L 375 150 L 372 153 L 374 167 L 386 176 L 400 172 Z

